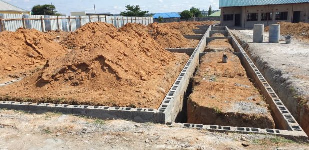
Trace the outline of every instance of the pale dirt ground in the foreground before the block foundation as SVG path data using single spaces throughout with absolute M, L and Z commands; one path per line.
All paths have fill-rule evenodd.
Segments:
M 270 135 L 216 133 L 61 113 L 0 109 L 0 118 L 0 149 L 309 149 L 308 144 Z

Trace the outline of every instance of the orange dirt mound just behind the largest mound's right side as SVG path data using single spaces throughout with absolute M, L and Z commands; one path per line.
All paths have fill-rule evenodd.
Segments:
M 192 48 L 196 47 L 199 40 L 189 40 L 184 38 L 183 34 L 168 25 L 159 25 L 152 23 L 147 26 L 150 36 L 160 43 L 164 48 Z

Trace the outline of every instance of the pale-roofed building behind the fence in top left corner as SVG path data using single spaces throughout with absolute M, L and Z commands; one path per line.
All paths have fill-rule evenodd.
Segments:
M 30 15 L 30 11 L 14 6 L 3 0 L 0 0 L 0 14 L 1 13 L 2 14 L 28 14 Z

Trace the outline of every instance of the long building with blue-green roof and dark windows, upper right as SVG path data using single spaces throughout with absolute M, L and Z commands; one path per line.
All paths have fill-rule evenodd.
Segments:
M 222 26 L 309 22 L 309 0 L 219 0 L 219 8 Z

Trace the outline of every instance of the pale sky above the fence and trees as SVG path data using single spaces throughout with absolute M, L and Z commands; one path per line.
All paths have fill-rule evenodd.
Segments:
M 219 9 L 219 0 L 4 0 L 20 8 L 31 10 L 34 5 L 51 4 L 55 5 L 58 13 L 70 15 L 70 12 L 86 11 L 111 12 L 119 14 L 125 11 L 125 5 L 139 5 L 142 10 L 149 13 L 159 12 L 181 12 L 189 10 L 192 6 L 200 10 Z

